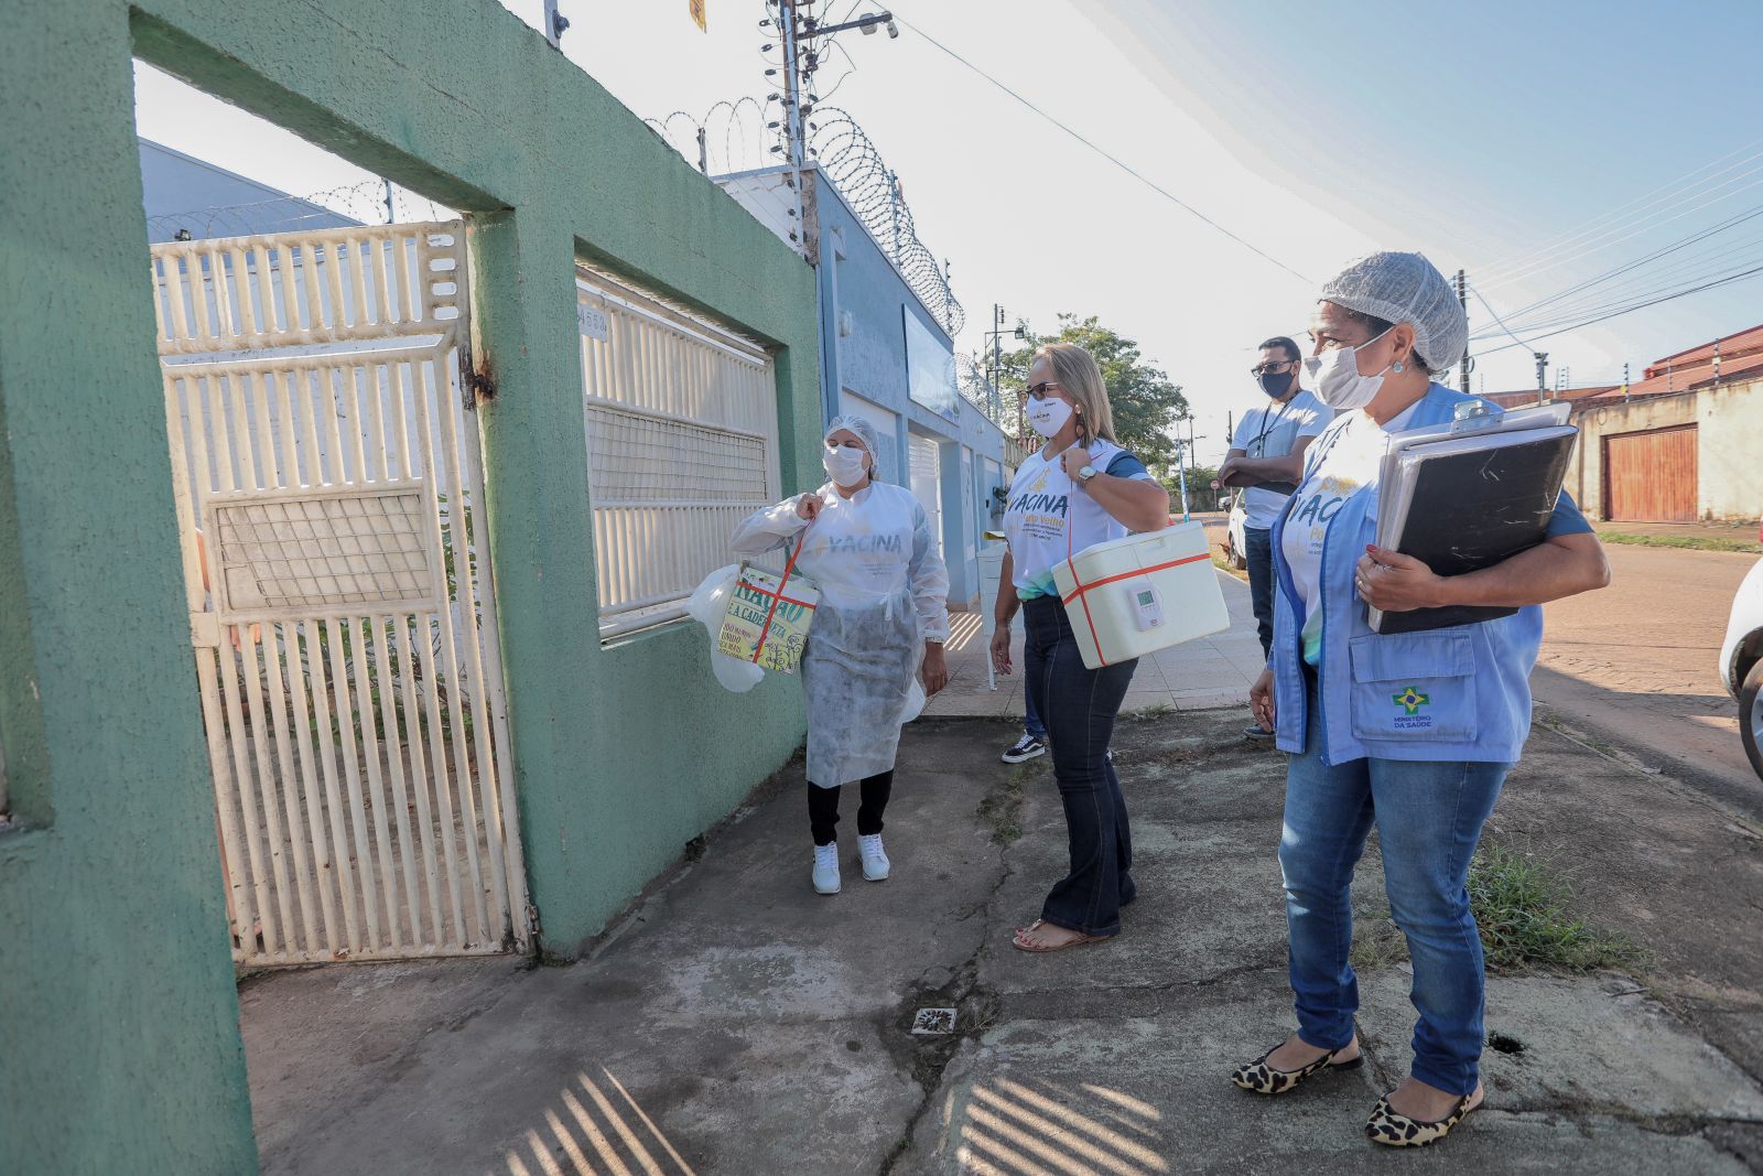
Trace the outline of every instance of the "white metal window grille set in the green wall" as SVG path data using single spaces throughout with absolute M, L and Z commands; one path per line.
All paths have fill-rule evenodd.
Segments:
M 777 398 L 756 344 L 577 273 L 599 635 L 686 615 L 735 525 L 779 497 Z

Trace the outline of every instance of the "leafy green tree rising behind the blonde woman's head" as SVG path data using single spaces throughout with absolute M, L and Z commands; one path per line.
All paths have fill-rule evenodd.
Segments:
M 1042 344 L 1077 344 L 1095 356 L 1107 384 L 1109 406 L 1114 411 L 1114 435 L 1121 448 L 1130 450 L 1153 473 L 1176 464 L 1176 443 L 1171 428 L 1188 418 L 1188 398 L 1181 386 L 1144 360 L 1139 344 L 1112 331 L 1095 317 L 1060 316 L 1054 335 L 1030 335 L 1028 344 L 1003 354 L 1000 386 L 1005 404 L 1010 404 L 1028 386 L 1028 365 Z M 1015 435 L 1014 414 L 1005 414 L 1005 432 Z

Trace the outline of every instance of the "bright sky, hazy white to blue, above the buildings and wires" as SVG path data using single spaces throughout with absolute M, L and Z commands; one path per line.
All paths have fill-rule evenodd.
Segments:
M 564 51 L 636 115 L 763 99 L 760 0 L 561 0 Z M 539 0 L 506 0 L 529 23 Z M 829 16 L 874 11 L 834 0 Z M 1098 314 L 1185 386 L 1202 457 L 1259 393 L 1253 344 L 1301 337 L 1317 284 L 1370 249 L 1467 268 L 1527 342 L 1599 309 L 1763 266 L 1763 215 L 1557 303 L 1529 303 L 1763 210 L 1763 4 L 1530 0 L 899 0 L 901 37 L 844 33 L 823 92 L 899 173 L 978 347 L 991 303 Z M 1257 257 L 945 56 L 941 41 Z M 148 138 L 294 194 L 361 178 L 143 76 Z M 719 123 L 718 123 L 719 127 Z M 718 130 L 719 134 L 721 130 Z M 755 157 L 765 143 L 751 127 Z M 1514 317 L 1516 312 L 1516 317 Z M 1573 384 L 1763 323 L 1763 275 L 1543 342 Z M 1474 333 L 1497 331 L 1470 303 Z M 1530 326 L 1532 330 L 1525 330 Z M 1476 342 L 1488 349 L 1506 337 Z M 1484 381 L 1484 383 L 1483 383 Z M 1555 372 L 1550 372 L 1555 381 Z M 1534 386 L 1529 347 L 1477 390 Z

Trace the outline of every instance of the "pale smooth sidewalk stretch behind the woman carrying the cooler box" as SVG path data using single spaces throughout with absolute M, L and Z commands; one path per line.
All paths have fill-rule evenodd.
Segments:
M 1255 636 L 1255 614 L 1248 585 L 1215 571 L 1224 587 L 1231 628 L 1139 659 L 1132 689 L 1121 711 L 1215 711 L 1248 707 L 1248 688 L 1266 665 Z M 938 718 L 1021 718 L 1023 714 L 1023 635 L 1010 644 L 1012 675 L 998 675 L 996 689 L 986 682 L 991 636 L 989 614 L 957 612 L 950 617 L 948 686 L 924 712 Z

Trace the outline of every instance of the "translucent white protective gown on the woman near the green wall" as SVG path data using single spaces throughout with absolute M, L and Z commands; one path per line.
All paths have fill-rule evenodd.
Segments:
M 901 716 L 924 642 L 948 638 L 948 571 L 911 492 L 876 481 L 850 499 L 829 481 L 795 569 L 820 589 L 802 651 L 807 779 L 822 788 L 894 767 Z M 797 499 L 735 527 L 740 555 L 793 548 Z

